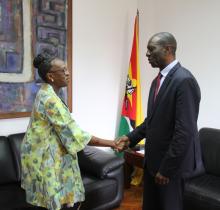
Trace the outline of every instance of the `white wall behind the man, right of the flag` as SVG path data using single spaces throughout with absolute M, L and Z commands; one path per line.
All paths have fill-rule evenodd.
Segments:
M 202 99 L 199 127 L 220 128 L 220 1 L 218 0 L 139 0 L 140 59 L 144 77 L 143 96 L 156 75 L 147 64 L 147 40 L 156 32 L 169 31 L 178 42 L 177 59 L 191 70 L 200 84 Z

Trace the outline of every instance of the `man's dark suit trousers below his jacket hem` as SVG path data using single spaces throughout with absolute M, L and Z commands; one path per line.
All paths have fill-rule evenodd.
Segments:
M 143 210 L 182 210 L 183 181 L 174 179 L 167 185 L 158 185 L 145 169 Z

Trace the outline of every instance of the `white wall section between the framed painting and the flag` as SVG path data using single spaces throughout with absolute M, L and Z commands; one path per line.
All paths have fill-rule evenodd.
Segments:
M 114 138 L 121 111 L 137 1 L 73 5 L 73 117 L 93 135 Z

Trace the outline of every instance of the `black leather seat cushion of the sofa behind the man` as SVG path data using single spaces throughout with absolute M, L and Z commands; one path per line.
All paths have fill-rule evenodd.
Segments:
M 220 177 L 205 174 L 190 179 L 186 182 L 184 194 L 186 200 L 201 209 L 220 209 Z

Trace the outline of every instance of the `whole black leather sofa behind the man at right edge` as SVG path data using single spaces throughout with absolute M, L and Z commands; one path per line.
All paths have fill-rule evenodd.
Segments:
M 199 131 L 204 174 L 186 181 L 184 210 L 220 210 L 220 130 Z

